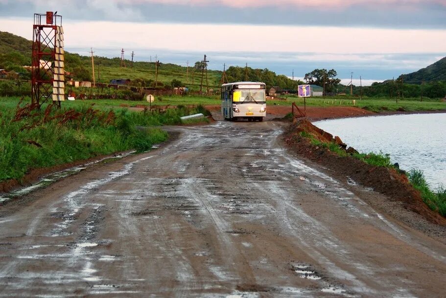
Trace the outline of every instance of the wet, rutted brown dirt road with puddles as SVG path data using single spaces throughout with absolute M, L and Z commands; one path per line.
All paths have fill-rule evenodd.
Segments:
M 289 155 L 278 125 L 178 128 L 3 207 L 0 297 L 443 297 L 445 245 Z

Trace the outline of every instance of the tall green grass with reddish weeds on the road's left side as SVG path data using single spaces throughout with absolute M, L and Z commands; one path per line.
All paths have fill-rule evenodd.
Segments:
M 167 138 L 160 125 L 179 125 L 181 116 L 207 114 L 202 106 L 132 112 L 95 110 L 84 102 L 57 111 L 46 110 L 47 106 L 41 111 L 25 109 L 24 116 L 17 117 L 18 102 L 0 98 L 0 181 L 21 179 L 33 168 L 130 149 L 148 150 Z M 20 107 L 24 106 L 22 102 Z

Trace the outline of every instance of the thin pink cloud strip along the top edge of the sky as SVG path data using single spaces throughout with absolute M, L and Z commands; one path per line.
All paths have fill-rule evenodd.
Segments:
M 346 8 L 354 5 L 409 7 L 414 5 L 440 4 L 446 6 L 446 0 L 125 0 L 127 3 L 158 3 L 175 5 L 216 6 L 234 8 L 256 7 L 313 7 Z

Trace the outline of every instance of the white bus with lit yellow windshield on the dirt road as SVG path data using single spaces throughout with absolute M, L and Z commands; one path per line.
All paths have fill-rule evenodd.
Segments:
M 230 121 L 263 121 L 266 116 L 266 85 L 261 82 L 237 82 L 221 86 L 221 113 Z

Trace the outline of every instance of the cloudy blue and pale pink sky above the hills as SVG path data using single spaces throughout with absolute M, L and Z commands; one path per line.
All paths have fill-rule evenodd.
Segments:
M 210 69 L 334 68 L 365 84 L 446 56 L 446 0 L 0 0 L 0 31 L 31 39 L 33 13 L 46 11 L 63 16 L 66 50 L 84 55 L 124 48 L 186 65 L 207 54 Z

